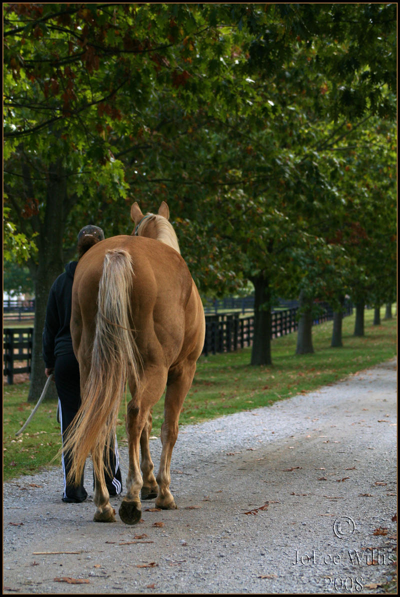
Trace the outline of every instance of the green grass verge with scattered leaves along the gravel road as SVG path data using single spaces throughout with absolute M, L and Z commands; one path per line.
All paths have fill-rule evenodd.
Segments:
M 384 309 L 381 310 L 381 317 Z M 224 414 L 267 406 L 297 393 L 307 393 L 396 355 L 397 320 L 375 326 L 373 310 L 365 312 L 365 336 L 353 337 L 355 316 L 343 320 L 343 347 L 331 348 L 332 322 L 313 328 L 313 355 L 297 356 L 297 334 L 272 341 L 271 367 L 251 367 L 250 349 L 202 356 L 187 395 L 180 424 L 199 423 Z M 21 436 L 15 433 L 34 404 L 26 402 L 29 383 L 4 386 L 4 479 L 30 475 L 52 462 L 60 448 L 57 403 L 44 401 Z M 130 396 L 128 395 L 128 400 Z M 153 410 L 153 435 L 159 435 L 164 400 Z M 125 400 L 119 411 L 118 441 L 125 441 Z

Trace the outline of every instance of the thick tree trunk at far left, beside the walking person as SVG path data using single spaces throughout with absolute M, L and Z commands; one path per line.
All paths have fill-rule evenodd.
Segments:
M 47 183 L 47 201 L 41 233 L 38 236 L 38 264 L 31 265 L 35 270 L 35 324 L 33 330 L 32 369 L 28 401 L 36 402 L 46 381 L 42 357 L 42 333 L 48 294 L 54 280 L 63 272 L 63 233 L 65 224 L 66 177 L 62 168 L 50 168 Z M 50 384 L 48 398 L 56 398 L 56 386 Z

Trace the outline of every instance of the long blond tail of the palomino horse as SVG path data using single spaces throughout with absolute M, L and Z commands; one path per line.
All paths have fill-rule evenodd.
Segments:
M 119 404 L 128 376 L 139 385 L 140 353 L 131 329 L 133 264 L 122 249 L 107 251 L 100 278 L 96 333 L 90 372 L 82 390 L 82 405 L 64 445 L 72 467 L 69 480 L 79 482 L 87 456 L 94 474 L 100 475 L 104 448 L 113 447 Z M 109 450 L 105 451 L 109 455 Z M 106 458 L 107 458 L 106 456 Z M 110 463 L 106 461 L 109 467 Z

